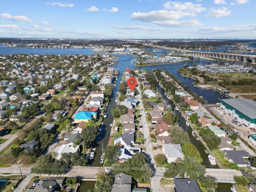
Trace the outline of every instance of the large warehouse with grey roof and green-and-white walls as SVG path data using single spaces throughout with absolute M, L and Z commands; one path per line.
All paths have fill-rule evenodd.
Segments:
M 222 99 L 220 108 L 248 129 L 256 129 L 256 101 L 251 99 Z

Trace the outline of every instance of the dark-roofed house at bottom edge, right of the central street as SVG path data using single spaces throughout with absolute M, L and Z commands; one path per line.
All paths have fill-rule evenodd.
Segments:
M 174 179 L 175 192 L 201 192 L 194 179 Z

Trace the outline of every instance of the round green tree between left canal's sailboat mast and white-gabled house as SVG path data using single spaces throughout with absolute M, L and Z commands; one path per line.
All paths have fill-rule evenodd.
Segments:
M 119 160 L 119 156 L 121 154 L 117 146 L 106 146 L 104 153 L 104 165 L 106 166 L 115 164 Z

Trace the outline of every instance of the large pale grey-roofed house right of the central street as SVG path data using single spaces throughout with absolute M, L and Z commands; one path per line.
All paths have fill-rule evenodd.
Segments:
M 184 159 L 180 144 L 163 144 L 163 152 L 168 163 L 176 161 L 177 158 Z

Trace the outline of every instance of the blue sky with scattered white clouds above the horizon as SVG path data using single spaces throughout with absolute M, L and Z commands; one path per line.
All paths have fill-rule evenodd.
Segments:
M 0 0 L 0 37 L 256 39 L 256 0 Z

